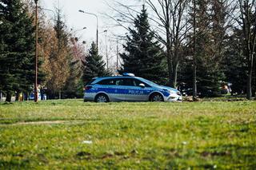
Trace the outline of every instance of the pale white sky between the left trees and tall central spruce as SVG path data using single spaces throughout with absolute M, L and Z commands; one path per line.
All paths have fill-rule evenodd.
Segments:
M 139 2 L 142 0 L 118 0 L 123 4 L 132 4 L 139 6 Z M 86 42 L 86 49 L 90 47 L 91 42 L 96 42 L 96 28 L 97 20 L 94 15 L 84 14 L 78 12 L 78 10 L 84 10 L 88 13 L 93 13 L 98 16 L 98 49 L 102 54 L 103 59 L 106 61 L 106 55 L 110 58 L 110 65 L 114 65 L 116 62 L 116 46 L 118 44 L 118 50 L 122 50 L 122 43 L 116 43 L 116 36 L 124 36 L 127 30 L 122 26 L 117 26 L 118 22 L 106 16 L 114 16 L 116 12 L 110 8 L 118 8 L 114 5 L 114 0 L 39 0 L 39 5 L 45 10 L 45 14 L 48 18 L 53 19 L 54 14 L 49 10 L 54 10 L 59 7 L 64 14 L 64 20 L 68 29 L 72 29 L 73 34 L 78 37 L 78 41 Z M 85 30 L 82 28 L 86 27 Z M 107 30 L 107 32 L 104 32 Z M 119 51 L 120 52 L 120 51 Z M 108 54 L 106 54 L 108 53 Z

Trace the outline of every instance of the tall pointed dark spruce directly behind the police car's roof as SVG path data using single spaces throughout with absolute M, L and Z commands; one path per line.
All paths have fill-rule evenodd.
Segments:
M 120 72 L 134 73 L 150 81 L 166 83 L 164 53 L 154 40 L 145 6 L 142 6 L 141 14 L 134 20 L 134 29 L 129 30 L 130 36 L 127 36 L 126 45 L 123 45 L 126 52 L 120 55 L 123 60 Z

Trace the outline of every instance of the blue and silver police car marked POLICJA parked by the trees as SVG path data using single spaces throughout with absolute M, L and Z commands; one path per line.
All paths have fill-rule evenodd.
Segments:
M 84 101 L 182 101 L 182 94 L 177 89 L 123 73 L 93 78 L 85 87 Z

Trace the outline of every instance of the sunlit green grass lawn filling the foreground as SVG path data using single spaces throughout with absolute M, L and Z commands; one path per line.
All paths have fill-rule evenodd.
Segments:
M 0 169 L 256 169 L 256 102 L 0 103 Z

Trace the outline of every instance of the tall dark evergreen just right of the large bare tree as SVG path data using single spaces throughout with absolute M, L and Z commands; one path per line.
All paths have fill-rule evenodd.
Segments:
M 228 0 L 193 0 L 189 45 L 193 51 L 193 97 L 218 96 L 225 79 L 222 66 L 230 18 L 234 8 Z M 190 81 L 190 80 L 188 80 Z

